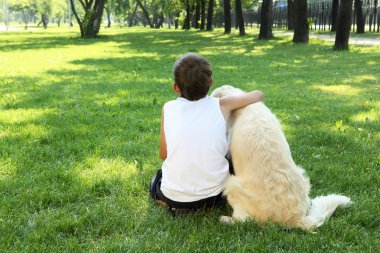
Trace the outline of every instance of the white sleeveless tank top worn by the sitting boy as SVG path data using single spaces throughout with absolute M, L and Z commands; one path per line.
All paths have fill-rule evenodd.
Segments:
M 162 165 L 162 193 L 192 202 L 216 196 L 229 174 L 226 122 L 219 99 L 178 98 L 164 105 L 167 158 Z

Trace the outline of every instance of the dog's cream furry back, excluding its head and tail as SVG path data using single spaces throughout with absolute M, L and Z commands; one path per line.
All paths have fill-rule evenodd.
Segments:
M 263 103 L 256 103 L 235 111 L 230 120 L 235 175 L 250 195 L 243 201 L 244 209 L 262 222 L 295 223 L 308 211 L 310 184 L 293 162 L 277 118 Z M 226 193 L 232 192 L 229 186 L 236 186 L 234 180 L 230 178 Z

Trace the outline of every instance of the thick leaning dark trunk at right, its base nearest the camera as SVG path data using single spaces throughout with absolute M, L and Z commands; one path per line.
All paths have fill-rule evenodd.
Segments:
M 353 0 L 344 0 L 340 3 L 334 50 L 348 50 L 352 19 Z

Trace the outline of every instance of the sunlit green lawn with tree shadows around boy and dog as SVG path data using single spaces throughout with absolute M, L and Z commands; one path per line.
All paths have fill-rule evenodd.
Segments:
M 111 29 L 0 34 L 0 251 L 379 252 L 380 47 L 290 37 Z M 260 89 L 280 119 L 312 196 L 340 193 L 315 234 L 231 210 L 173 218 L 148 198 L 171 68 L 187 51 L 207 57 L 214 86 Z

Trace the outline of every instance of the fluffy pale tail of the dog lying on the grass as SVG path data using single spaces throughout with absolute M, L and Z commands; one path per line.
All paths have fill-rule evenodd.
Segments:
M 311 200 L 309 212 L 299 225 L 308 230 L 319 227 L 326 219 L 331 217 L 337 207 L 348 206 L 350 203 L 350 198 L 342 195 L 331 194 L 316 197 Z

